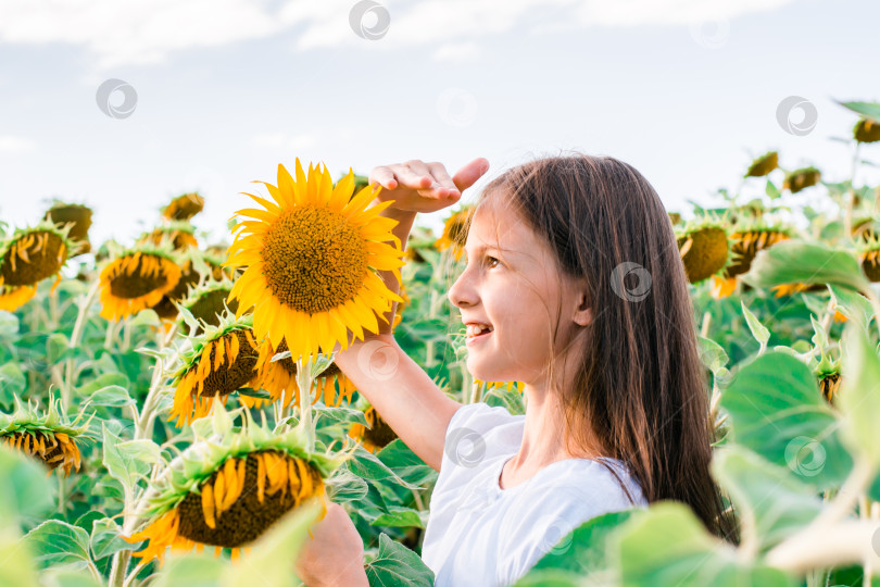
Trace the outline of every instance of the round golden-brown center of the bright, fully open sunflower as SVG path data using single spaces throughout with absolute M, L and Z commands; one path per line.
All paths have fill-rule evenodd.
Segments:
M 261 251 L 266 283 L 293 310 L 326 312 L 363 286 L 364 243 L 339 212 L 315 205 L 288 210 L 268 229 Z

